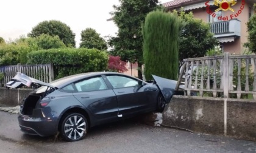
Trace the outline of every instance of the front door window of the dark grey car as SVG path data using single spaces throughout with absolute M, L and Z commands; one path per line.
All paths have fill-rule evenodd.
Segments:
M 133 87 L 138 86 L 138 80 L 134 80 L 132 78 L 118 76 L 118 75 L 110 75 L 107 76 L 110 84 L 116 89 L 121 87 Z

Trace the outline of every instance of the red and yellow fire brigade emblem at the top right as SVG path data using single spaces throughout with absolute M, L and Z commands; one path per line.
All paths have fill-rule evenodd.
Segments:
M 224 11 L 230 10 L 230 11 L 234 12 L 234 10 L 230 6 L 235 5 L 236 1 L 235 0 L 230 0 L 230 1 L 227 1 L 227 0 L 222 0 L 222 1 L 214 0 L 213 4 L 219 7 L 219 9 L 216 9 L 215 12 L 218 12 L 219 10 L 224 10 Z

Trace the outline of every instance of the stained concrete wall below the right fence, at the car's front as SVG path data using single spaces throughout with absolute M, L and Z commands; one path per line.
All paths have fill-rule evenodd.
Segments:
M 256 101 L 228 99 L 224 108 L 224 98 L 174 96 L 163 125 L 256 141 Z

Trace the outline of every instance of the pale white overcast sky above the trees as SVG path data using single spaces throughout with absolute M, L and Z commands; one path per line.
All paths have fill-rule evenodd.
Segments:
M 162 0 L 168 2 L 170 0 Z M 27 35 L 39 22 L 59 20 L 76 33 L 79 46 L 80 32 L 87 27 L 95 29 L 101 36 L 115 35 L 118 28 L 110 18 L 109 12 L 118 0 L 8 0 L 0 3 L 0 36 L 9 39 Z

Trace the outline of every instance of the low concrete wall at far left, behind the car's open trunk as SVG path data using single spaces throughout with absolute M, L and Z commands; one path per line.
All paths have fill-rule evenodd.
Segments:
M 20 105 L 32 89 L 6 89 L 0 87 L 0 104 L 7 106 Z

